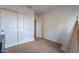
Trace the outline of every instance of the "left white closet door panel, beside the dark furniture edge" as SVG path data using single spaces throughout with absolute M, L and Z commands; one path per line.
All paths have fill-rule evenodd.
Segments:
M 17 44 L 17 13 L 1 10 L 1 30 L 5 35 L 5 48 Z

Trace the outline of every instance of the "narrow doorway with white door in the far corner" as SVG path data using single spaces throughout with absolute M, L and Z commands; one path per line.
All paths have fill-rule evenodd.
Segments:
M 43 24 L 42 24 L 42 19 L 40 17 L 37 17 L 34 20 L 34 38 L 42 38 L 43 36 Z

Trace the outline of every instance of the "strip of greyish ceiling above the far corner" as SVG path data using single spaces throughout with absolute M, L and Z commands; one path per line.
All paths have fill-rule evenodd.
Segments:
M 27 7 L 32 8 L 36 14 L 43 14 L 59 6 L 60 5 L 29 5 Z

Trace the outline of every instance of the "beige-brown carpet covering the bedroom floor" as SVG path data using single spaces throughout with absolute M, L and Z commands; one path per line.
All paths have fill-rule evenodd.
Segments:
M 6 49 L 8 53 L 60 53 L 61 45 L 46 39 L 36 38 L 33 42 L 23 43 Z

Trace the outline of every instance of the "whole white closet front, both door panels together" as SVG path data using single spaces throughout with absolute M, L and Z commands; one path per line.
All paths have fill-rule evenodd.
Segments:
M 33 41 L 33 24 L 31 15 L 0 9 L 0 35 L 5 36 L 5 48 Z

